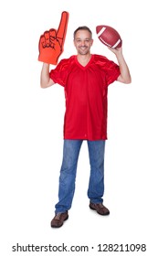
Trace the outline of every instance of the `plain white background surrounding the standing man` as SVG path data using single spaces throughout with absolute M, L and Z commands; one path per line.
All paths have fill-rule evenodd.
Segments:
M 20 245 L 64 242 L 94 246 L 88 255 L 103 255 L 105 252 L 97 251 L 100 243 L 146 243 L 146 252 L 131 254 L 155 255 L 158 228 L 156 1 L 5 0 L 0 5 L 1 254 L 24 255 L 24 252 L 12 252 L 17 242 Z M 51 27 L 58 28 L 62 11 L 68 11 L 69 21 L 60 59 L 76 54 L 73 31 L 86 25 L 93 32 L 91 52 L 116 61 L 95 33 L 97 25 L 115 27 L 123 40 L 132 84 L 115 82 L 109 89 L 104 202 L 111 215 L 102 217 L 89 208 L 90 165 L 84 143 L 69 219 L 61 229 L 51 229 L 50 220 L 58 200 L 65 99 L 63 88 L 58 85 L 40 89 L 42 63 L 37 61 L 37 56 L 40 35 Z M 37 255 L 51 253 L 55 254 L 37 252 Z M 86 255 L 86 252 L 74 253 Z M 117 255 L 126 253 L 117 252 Z

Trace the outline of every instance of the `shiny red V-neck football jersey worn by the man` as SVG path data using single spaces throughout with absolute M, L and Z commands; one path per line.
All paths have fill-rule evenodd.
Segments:
M 64 139 L 106 140 L 108 85 L 119 77 L 119 66 L 91 55 L 83 67 L 77 56 L 71 56 L 62 59 L 49 75 L 65 89 Z

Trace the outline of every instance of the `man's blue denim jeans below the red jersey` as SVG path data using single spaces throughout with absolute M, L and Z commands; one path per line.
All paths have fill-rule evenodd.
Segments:
M 56 213 L 71 208 L 75 192 L 75 180 L 79 150 L 83 140 L 64 140 L 63 161 L 59 176 L 58 204 Z M 104 193 L 105 141 L 87 141 L 90 156 L 90 182 L 88 197 L 92 203 L 102 203 Z

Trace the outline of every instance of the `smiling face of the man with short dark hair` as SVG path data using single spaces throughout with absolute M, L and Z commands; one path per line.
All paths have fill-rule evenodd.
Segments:
M 90 32 L 87 30 L 79 30 L 74 38 L 74 45 L 80 55 L 90 54 L 90 47 L 92 46 L 93 40 Z

